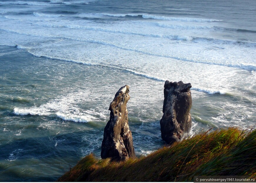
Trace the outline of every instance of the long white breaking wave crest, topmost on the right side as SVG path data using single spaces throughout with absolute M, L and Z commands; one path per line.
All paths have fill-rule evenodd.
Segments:
M 142 15 L 143 18 L 152 18 L 158 20 L 173 20 L 173 21 L 185 21 L 185 22 L 212 22 L 212 21 L 222 21 L 214 19 L 202 19 L 202 18 L 178 18 L 178 17 L 165 17 L 165 16 L 154 16 L 154 15 Z

